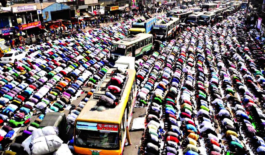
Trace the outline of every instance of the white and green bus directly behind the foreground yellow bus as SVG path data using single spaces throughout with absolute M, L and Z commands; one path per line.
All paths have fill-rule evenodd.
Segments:
M 112 44 L 110 59 L 117 60 L 121 56 L 140 57 L 151 51 L 152 43 L 152 34 L 139 33 L 137 35 L 129 35 Z

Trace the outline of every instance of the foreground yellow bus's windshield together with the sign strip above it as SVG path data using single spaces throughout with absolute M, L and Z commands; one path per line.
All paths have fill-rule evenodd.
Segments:
M 119 150 L 118 125 L 77 122 L 75 135 L 75 145 L 78 147 Z

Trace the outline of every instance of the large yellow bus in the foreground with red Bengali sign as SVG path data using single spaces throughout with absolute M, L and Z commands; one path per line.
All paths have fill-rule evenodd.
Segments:
M 99 82 L 93 95 L 75 121 L 74 150 L 76 154 L 86 155 L 121 155 L 127 138 L 130 145 L 129 126 L 135 105 L 136 71 L 126 69 L 119 100 L 115 108 L 98 111 L 99 97 L 107 91 L 110 80 L 117 69 L 109 69 Z

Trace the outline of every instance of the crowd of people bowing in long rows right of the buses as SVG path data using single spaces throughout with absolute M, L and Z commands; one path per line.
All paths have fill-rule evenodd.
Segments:
M 265 39 L 243 29 L 238 11 L 136 61 L 138 104 L 148 107 L 141 154 L 265 154 Z

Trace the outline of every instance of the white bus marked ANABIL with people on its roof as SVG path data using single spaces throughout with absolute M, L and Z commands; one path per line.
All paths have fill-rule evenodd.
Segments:
M 167 40 L 172 36 L 172 33 L 179 27 L 179 18 L 167 18 L 161 19 L 155 23 L 153 27 L 153 33 L 156 34 L 156 38 L 160 40 Z

